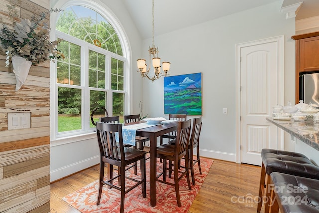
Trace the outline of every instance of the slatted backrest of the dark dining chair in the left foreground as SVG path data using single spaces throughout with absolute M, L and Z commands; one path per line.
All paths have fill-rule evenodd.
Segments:
M 96 133 L 101 158 L 121 162 L 121 156 L 124 156 L 122 124 L 96 122 Z M 119 134 L 118 142 L 116 133 Z

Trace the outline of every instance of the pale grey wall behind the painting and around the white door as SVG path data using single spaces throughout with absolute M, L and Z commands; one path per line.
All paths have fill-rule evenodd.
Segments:
M 284 35 L 285 102 L 295 100 L 295 41 L 290 39 L 295 19 L 286 20 L 280 8 L 278 1 L 154 38 L 159 57 L 171 62 L 171 75 L 202 72 L 201 155 L 235 161 L 236 44 Z M 144 57 L 151 44 L 143 40 Z M 143 88 L 145 113 L 163 116 L 163 78 L 153 84 L 144 80 Z

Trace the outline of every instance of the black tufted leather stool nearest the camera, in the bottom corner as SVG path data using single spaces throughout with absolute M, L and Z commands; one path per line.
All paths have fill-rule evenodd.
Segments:
M 271 213 L 319 213 L 319 180 L 273 172 Z

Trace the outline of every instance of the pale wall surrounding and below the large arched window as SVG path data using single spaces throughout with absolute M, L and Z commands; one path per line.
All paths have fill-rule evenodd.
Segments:
M 92 0 L 101 7 L 107 8 L 117 22 L 125 31 L 131 48 L 130 75 L 131 81 L 131 109 L 127 113 L 139 113 L 139 102 L 142 100 L 142 79 L 137 74 L 136 59 L 142 53 L 142 39 L 132 22 L 131 17 L 125 9 L 122 1 L 119 0 Z M 61 8 L 69 0 L 50 0 L 51 8 Z M 52 119 L 52 118 L 51 118 Z M 78 137 L 79 139 L 67 138 L 51 141 L 50 174 L 51 181 L 60 179 L 79 170 L 85 169 L 99 163 L 99 151 L 96 135 L 94 133 Z

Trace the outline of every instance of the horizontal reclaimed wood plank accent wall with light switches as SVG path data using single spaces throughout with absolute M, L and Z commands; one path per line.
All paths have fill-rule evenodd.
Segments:
M 6 4 L 0 0 L 0 17 L 9 24 Z M 30 19 L 48 11 L 50 1 L 21 0 L 17 8 L 19 18 Z M 1 212 L 50 212 L 49 65 L 31 66 L 25 84 L 15 92 L 15 75 L 5 67 L 5 56 L 0 56 Z M 31 128 L 8 130 L 10 112 L 30 112 Z

